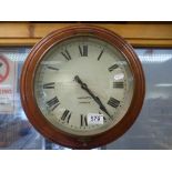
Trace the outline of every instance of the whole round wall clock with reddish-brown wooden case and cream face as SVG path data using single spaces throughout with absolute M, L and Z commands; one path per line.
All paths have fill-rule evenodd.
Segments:
M 133 124 L 144 75 L 123 38 L 84 24 L 53 31 L 37 43 L 20 88 L 26 114 L 42 135 L 63 146 L 92 149 Z

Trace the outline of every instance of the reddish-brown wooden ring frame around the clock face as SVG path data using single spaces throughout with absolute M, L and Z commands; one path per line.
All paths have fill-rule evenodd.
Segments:
M 118 49 L 129 62 L 134 79 L 131 104 L 125 115 L 110 130 L 95 135 L 72 135 L 53 127 L 42 114 L 34 98 L 34 72 L 44 54 L 57 43 L 70 38 L 88 36 L 101 39 Z M 79 24 L 55 30 L 42 38 L 29 53 L 21 72 L 20 95 L 23 110 L 32 125 L 49 140 L 72 149 L 92 149 L 108 144 L 124 134 L 134 123 L 142 108 L 145 80 L 142 64 L 133 48 L 117 33 L 104 28 Z

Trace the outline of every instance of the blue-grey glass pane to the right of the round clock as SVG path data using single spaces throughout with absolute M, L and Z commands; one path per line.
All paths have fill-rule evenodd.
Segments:
M 145 75 L 145 100 L 133 127 L 107 149 L 172 149 L 172 49 L 135 49 Z

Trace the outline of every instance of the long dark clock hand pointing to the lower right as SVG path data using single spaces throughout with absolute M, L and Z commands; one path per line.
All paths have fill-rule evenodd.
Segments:
M 108 112 L 108 110 L 105 109 L 105 107 L 103 105 L 103 103 L 101 102 L 101 100 L 99 99 L 99 97 L 95 97 L 92 93 L 92 91 L 88 88 L 88 85 L 81 81 L 81 79 L 79 78 L 79 75 L 75 75 L 74 77 L 74 80 L 81 85 L 81 88 L 83 90 L 85 90 L 92 97 L 92 99 L 99 104 L 100 109 L 103 112 L 105 112 L 111 118 L 110 113 Z

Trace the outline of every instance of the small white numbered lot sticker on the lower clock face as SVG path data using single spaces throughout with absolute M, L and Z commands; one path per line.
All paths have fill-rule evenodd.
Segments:
M 88 113 L 88 124 L 103 124 L 103 114 Z

